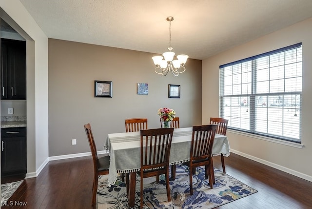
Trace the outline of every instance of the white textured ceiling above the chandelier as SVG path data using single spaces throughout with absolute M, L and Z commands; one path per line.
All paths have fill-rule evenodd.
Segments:
M 312 17 L 312 0 L 20 0 L 48 38 L 205 59 Z

